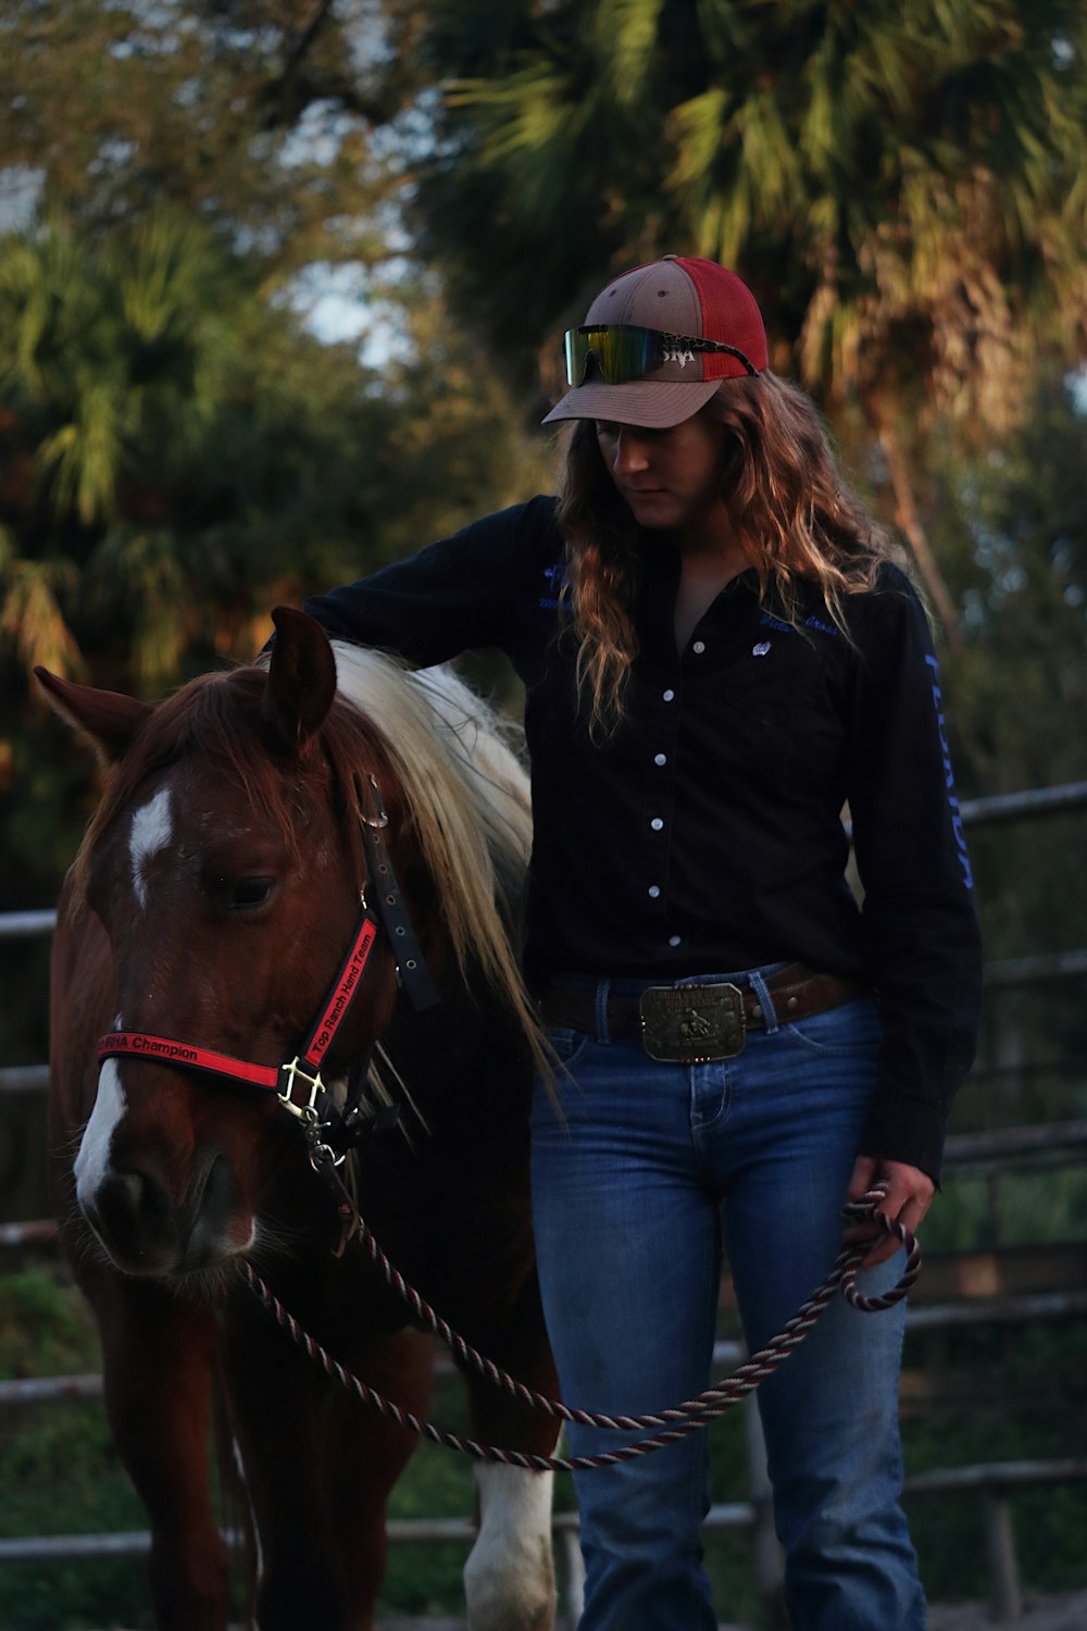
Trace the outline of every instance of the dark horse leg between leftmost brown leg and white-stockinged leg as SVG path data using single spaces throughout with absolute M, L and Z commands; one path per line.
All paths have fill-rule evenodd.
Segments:
M 308 1321 L 308 1311 L 298 1316 Z M 425 1411 L 430 1341 L 329 1336 L 350 1370 Z M 385 1507 L 417 1440 L 347 1395 L 256 1305 L 231 1310 L 228 1398 L 257 1535 L 261 1631 L 370 1631 L 385 1574 Z

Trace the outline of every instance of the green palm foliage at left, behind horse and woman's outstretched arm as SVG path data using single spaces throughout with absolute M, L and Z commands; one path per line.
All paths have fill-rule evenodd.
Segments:
M 29 767 L 72 750 L 34 700 L 34 662 L 161 693 L 253 656 L 279 600 L 546 480 L 440 305 L 420 297 L 406 323 L 406 360 L 367 369 L 171 212 L 101 238 L 55 225 L 0 240 L 0 786 L 7 837 L 36 853 L 20 895 L 34 881 L 52 894 L 90 796 L 83 776 L 44 850 Z

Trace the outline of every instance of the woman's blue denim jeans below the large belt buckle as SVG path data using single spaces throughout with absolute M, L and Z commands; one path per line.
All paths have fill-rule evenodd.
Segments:
M 834 1262 L 880 1021 L 859 1000 L 779 1024 L 766 972 L 714 977 L 753 983 L 768 1013 L 766 1031 L 748 1032 L 735 1059 L 658 1063 L 640 1041 L 611 1039 L 603 1019 L 596 1036 L 551 1032 L 566 1065 L 562 1117 L 538 1085 L 533 1210 L 570 1404 L 644 1414 L 707 1386 L 722 1240 L 751 1352 Z M 611 992 L 644 983 L 613 982 Z M 862 1290 L 883 1290 L 900 1272 L 895 1259 L 862 1275 Z M 862 1315 L 838 1297 L 758 1390 L 794 1631 L 924 1628 L 898 1505 L 903 1323 L 904 1303 Z M 632 1437 L 569 1429 L 574 1455 Z M 706 1434 L 579 1473 L 575 1486 L 580 1631 L 712 1631 L 699 1533 Z

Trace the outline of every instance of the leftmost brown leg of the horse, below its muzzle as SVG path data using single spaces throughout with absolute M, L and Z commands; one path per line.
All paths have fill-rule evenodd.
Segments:
M 109 1425 L 152 1527 L 161 1631 L 225 1631 L 230 1559 L 210 1501 L 215 1326 L 153 1282 L 80 1275 L 99 1318 Z

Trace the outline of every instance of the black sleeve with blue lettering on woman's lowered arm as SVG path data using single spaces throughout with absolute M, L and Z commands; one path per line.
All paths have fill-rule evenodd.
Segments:
M 893 569 L 857 600 L 847 794 L 885 1032 L 859 1155 L 935 1182 L 981 1008 L 973 874 L 924 610 Z M 927 1205 L 903 1184 L 903 1207 Z

